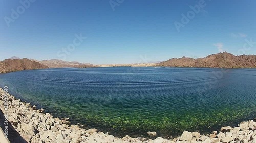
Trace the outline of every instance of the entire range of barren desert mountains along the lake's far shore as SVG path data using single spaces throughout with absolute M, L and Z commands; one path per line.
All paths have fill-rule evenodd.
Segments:
M 205 58 L 172 58 L 160 63 L 148 64 L 109 64 L 109 65 L 92 65 L 89 63 L 80 63 L 77 61 L 68 62 L 58 59 L 52 60 L 33 60 L 16 56 L 0 61 L 0 73 L 30 70 L 30 69 L 45 69 L 45 68 L 88 68 L 88 67 L 116 67 L 116 66 L 161 66 L 161 67 L 207 67 L 207 68 L 256 68 L 256 55 L 233 55 L 223 52 L 211 54 Z

